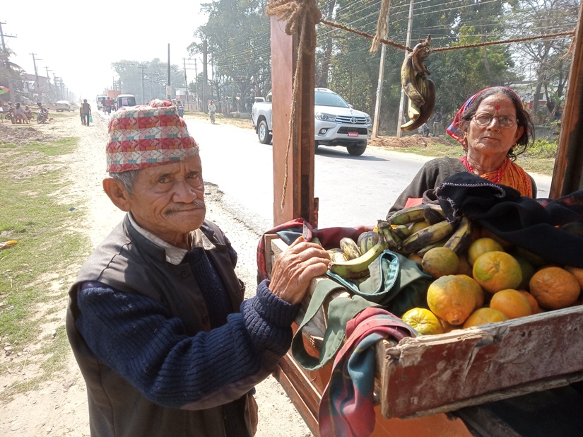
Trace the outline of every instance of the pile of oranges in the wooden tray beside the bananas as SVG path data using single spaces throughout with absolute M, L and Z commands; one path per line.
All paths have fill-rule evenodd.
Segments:
M 421 264 L 434 278 L 428 308 L 402 315 L 420 334 L 442 334 L 582 304 L 583 269 L 548 263 L 485 229 L 463 255 L 434 247 Z

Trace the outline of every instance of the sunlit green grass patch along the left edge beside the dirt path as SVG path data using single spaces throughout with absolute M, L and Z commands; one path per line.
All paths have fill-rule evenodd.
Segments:
M 50 378 L 66 362 L 65 327 L 57 324 L 66 307 L 71 266 L 90 247 L 89 238 L 71 231 L 81 217 L 57 194 L 66 180 L 59 156 L 77 144 L 78 139 L 67 138 L 0 148 L 0 157 L 6 155 L 0 161 L 0 198 L 8 206 L 0 215 L 0 241 L 18 241 L 0 250 L 0 337 L 3 345 L 13 346 L 13 356 L 21 352 L 28 363 L 42 362 L 40 374 L 8 392 L 32 389 L 33 379 Z M 54 339 L 43 327 L 47 324 L 57 326 Z

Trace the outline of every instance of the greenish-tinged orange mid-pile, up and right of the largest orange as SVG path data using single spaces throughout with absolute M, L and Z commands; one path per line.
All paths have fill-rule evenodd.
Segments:
M 486 252 L 473 263 L 473 279 L 490 293 L 517 289 L 522 282 L 522 269 L 518 261 L 506 252 Z

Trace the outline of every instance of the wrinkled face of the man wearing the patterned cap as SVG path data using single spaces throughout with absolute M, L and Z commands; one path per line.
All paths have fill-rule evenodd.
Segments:
M 200 156 L 141 170 L 129 203 L 142 228 L 184 247 L 206 214 Z

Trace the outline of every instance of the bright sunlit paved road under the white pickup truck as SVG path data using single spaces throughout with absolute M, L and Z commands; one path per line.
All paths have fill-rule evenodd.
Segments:
M 261 144 L 252 129 L 187 119 L 199 143 L 204 179 L 218 186 L 225 204 L 261 232 L 273 225 L 271 144 Z M 396 197 L 430 158 L 369 146 L 363 156 L 342 147 L 320 147 L 315 156 L 314 196 L 319 227 L 372 226 L 383 219 Z M 550 177 L 534 175 L 538 197 L 547 197 Z

